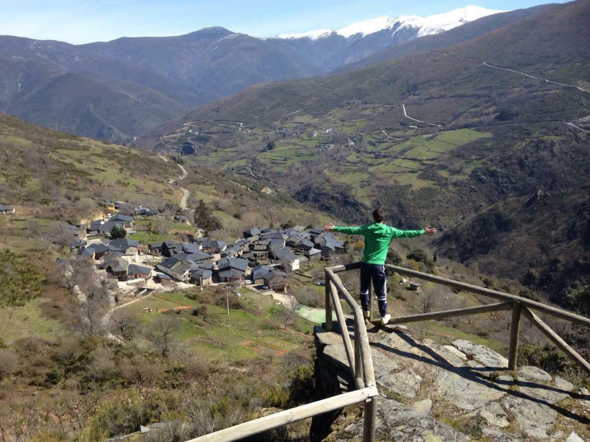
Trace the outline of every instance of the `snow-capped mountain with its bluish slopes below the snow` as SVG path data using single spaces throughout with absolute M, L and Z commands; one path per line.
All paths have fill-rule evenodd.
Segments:
M 369 57 L 392 45 L 425 35 L 440 34 L 460 25 L 503 11 L 466 6 L 442 14 L 397 18 L 376 17 L 340 29 L 316 29 L 301 34 L 282 34 L 265 38 L 277 47 L 289 47 L 301 56 L 329 70 Z

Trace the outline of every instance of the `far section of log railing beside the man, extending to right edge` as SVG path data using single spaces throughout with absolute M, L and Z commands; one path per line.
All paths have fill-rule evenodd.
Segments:
M 360 268 L 360 263 L 346 264 L 340 266 L 333 266 L 326 269 L 326 275 L 334 275 L 341 272 L 355 270 Z M 428 273 L 418 272 L 415 270 L 406 269 L 404 267 L 385 265 L 385 268 L 389 273 L 396 272 L 400 275 L 409 276 L 411 278 L 421 279 L 422 281 L 434 282 L 440 285 L 450 287 L 452 289 L 463 290 L 466 292 L 476 293 L 477 295 L 487 296 L 488 298 L 497 299 L 499 303 L 486 304 L 476 307 L 459 308 L 453 310 L 446 310 L 442 312 L 432 312 L 419 315 L 409 316 L 398 316 L 397 318 L 391 318 L 388 324 L 403 324 L 407 322 L 417 321 L 428 321 L 431 319 L 443 319 L 453 318 L 455 316 L 466 316 L 476 315 L 481 313 L 489 313 L 501 310 L 512 310 L 512 320 L 510 323 L 510 347 L 508 352 L 508 368 L 509 370 L 516 370 L 516 358 L 518 354 L 519 334 L 520 334 L 520 318 L 522 315 L 535 325 L 553 344 L 556 345 L 561 351 L 563 351 L 575 364 L 577 364 L 586 374 L 590 375 L 590 364 L 582 358 L 578 352 L 571 348 L 567 342 L 559 337 L 545 322 L 539 319 L 539 316 L 533 313 L 533 310 L 543 312 L 548 315 L 555 316 L 556 318 L 565 319 L 565 321 L 572 322 L 574 324 L 580 324 L 590 327 L 590 319 L 584 316 L 579 316 L 571 312 L 555 308 L 540 302 L 531 301 L 530 299 L 521 298 L 520 296 L 510 295 L 509 293 L 503 293 L 496 290 L 486 289 L 478 287 L 476 285 L 467 284 L 464 282 L 454 281 L 453 279 L 441 278 L 440 276 L 430 275 Z M 326 278 L 326 283 L 328 279 Z M 326 289 L 327 290 L 327 289 Z M 370 290 L 370 289 L 369 289 Z M 327 291 L 326 291 L 327 293 Z M 346 292 L 348 293 L 348 292 Z M 369 296 L 371 292 L 369 291 Z M 373 320 L 373 305 L 371 296 L 371 316 L 370 321 L 375 325 L 380 325 L 378 320 Z M 326 295 L 326 318 L 331 317 L 329 306 L 327 304 Z M 337 307 L 336 307 L 337 311 Z M 326 327 L 328 326 L 328 320 L 326 319 Z

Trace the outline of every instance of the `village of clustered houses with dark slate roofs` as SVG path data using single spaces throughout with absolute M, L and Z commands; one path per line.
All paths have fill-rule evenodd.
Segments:
M 114 203 L 102 203 L 114 209 Z M 136 207 L 135 212 L 141 217 L 158 213 L 143 206 Z M 242 232 L 242 238 L 234 243 L 200 237 L 192 242 L 142 244 L 130 238 L 134 221 L 135 216 L 118 213 L 93 220 L 87 226 L 64 227 L 76 236 L 71 242 L 76 259 L 89 260 L 97 271 L 116 280 L 117 288 L 142 295 L 159 288 L 234 282 L 285 291 L 289 273 L 299 271 L 307 262 L 335 259 L 345 250 L 345 244 L 332 233 L 303 226 L 283 230 L 253 227 Z M 113 227 L 131 235 L 112 238 Z M 64 259 L 57 263 L 68 265 Z

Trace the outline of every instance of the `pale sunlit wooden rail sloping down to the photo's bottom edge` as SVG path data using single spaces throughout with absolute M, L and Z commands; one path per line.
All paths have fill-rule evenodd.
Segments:
M 205 434 L 205 436 L 191 439 L 188 442 L 230 442 L 240 440 L 244 437 L 264 433 L 264 431 L 282 427 L 283 425 L 307 419 L 318 414 L 338 410 L 339 408 L 348 407 L 348 405 L 358 404 L 375 398 L 378 394 L 379 392 L 375 386 L 350 391 L 311 404 L 300 405 L 290 410 L 279 411 L 278 413 L 244 422 L 243 424 L 234 425 L 234 427 L 215 431 L 215 433 Z

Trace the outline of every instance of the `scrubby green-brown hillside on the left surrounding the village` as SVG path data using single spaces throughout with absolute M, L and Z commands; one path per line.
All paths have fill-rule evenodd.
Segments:
M 125 301 L 140 302 L 115 314 L 110 303 L 123 298 L 103 295 L 117 292 L 117 279 L 94 269 L 98 261 L 73 260 L 77 252 L 70 245 L 73 231 L 80 235 L 77 225 L 112 211 L 103 200 L 126 202 L 122 211 L 140 204 L 156 208 L 158 215 L 138 217 L 127 233 L 145 250 L 149 242 L 187 242 L 201 234 L 207 226 L 193 222 L 196 207 L 206 207 L 221 225 L 209 229 L 214 239 L 241 237 L 259 223 L 320 225 L 326 219 L 321 213 L 246 177 L 207 166 L 186 166 L 182 177 L 182 163 L 169 157 L 4 114 L 0 157 L 0 438 L 104 440 L 140 424 L 170 421 L 188 403 L 195 410 L 208 401 L 222 404 L 232 391 L 231 407 L 212 412 L 209 424 L 171 428 L 196 435 L 256 417 L 263 406 L 297 405 L 309 395 L 311 326 L 292 315 L 287 321 L 269 296 L 230 294 L 228 316 L 221 315 L 225 289 L 186 291 L 188 284 L 179 283 L 182 292 L 162 285 L 140 299 L 130 286 Z M 188 209 L 182 210 L 185 191 Z M 5 214 L 5 205 L 14 213 Z M 175 220 L 179 214 L 190 222 Z M 79 278 L 74 288 L 71 278 Z M 153 314 L 140 314 L 146 306 Z M 128 341 L 113 338 L 121 333 L 117 324 L 126 327 Z M 162 326 L 170 327 L 168 352 L 156 344 Z

